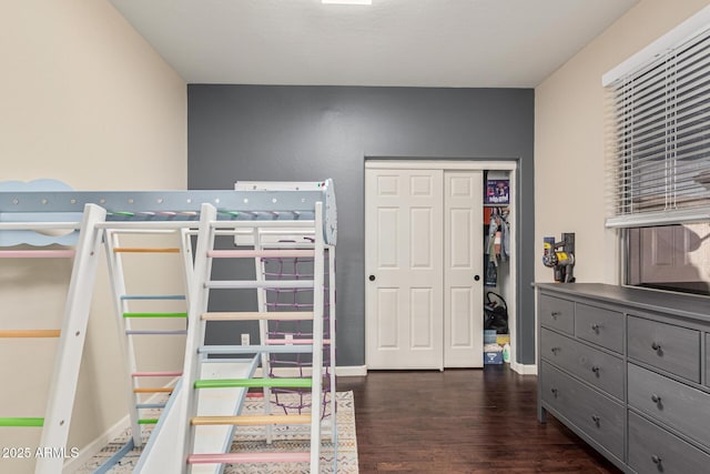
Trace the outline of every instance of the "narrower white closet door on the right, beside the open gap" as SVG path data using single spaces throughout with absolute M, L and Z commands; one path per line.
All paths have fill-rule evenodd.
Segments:
M 444 366 L 483 366 L 483 173 L 444 173 Z

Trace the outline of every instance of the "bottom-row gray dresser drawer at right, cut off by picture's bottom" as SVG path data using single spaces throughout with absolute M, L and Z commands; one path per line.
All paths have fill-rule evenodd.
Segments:
M 710 456 L 636 413 L 629 412 L 628 464 L 638 473 L 708 472 Z

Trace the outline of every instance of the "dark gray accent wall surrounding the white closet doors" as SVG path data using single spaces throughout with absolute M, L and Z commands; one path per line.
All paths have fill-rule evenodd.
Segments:
M 517 362 L 534 364 L 534 112 L 532 89 L 191 84 L 187 184 L 232 189 L 237 180 L 333 178 L 337 364 L 363 365 L 365 160 L 517 160 L 518 314 L 510 317 L 517 319 Z M 222 331 L 211 333 L 217 343 Z

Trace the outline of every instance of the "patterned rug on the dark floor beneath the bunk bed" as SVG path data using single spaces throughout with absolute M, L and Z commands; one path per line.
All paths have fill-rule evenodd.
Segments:
M 283 396 L 283 395 L 282 395 Z M 357 467 L 357 438 L 355 436 L 355 410 L 353 404 L 353 392 L 336 393 L 337 400 L 337 450 L 334 450 L 329 431 L 324 433 L 321 445 L 321 473 L 322 474 L 356 474 Z M 273 413 L 278 413 L 277 407 Z M 242 410 L 243 414 L 263 413 L 263 401 L 260 399 L 246 399 Z M 328 417 L 323 422 L 324 432 L 331 425 Z M 148 437 L 148 431 L 144 437 Z M 278 426 L 272 432 L 272 443 L 266 444 L 264 427 L 237 427 L 232 444 L 232 452 L 290 452 L 307 451 L 310 446 L 310 426 Z M 103 462 L 110 458 L 115 452 L 125 445 L 130 438 L 130 430 L 126 430 L 119 437 L 101 450 L 89 463 L 79 468 L 75 474 L 93 473 Z M 337 452 L 337 460 L 334 453 Z M 119 464 L 113 466 L 109 474 L 125 474 L 133 471 L 133 466 L 141 455 L 140 448 L 129 452 Z M 336 462 L 335 462 L 336 461 Z M 229 464 L 224 468 L 224 474 L 300 474 L 308 473 L 307 463 L 277 463 L 277 464 Z

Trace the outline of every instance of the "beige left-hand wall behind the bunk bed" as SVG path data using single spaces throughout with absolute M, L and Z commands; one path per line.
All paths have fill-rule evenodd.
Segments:
M 185 83 L 108 1 L 3 2 L 0 62 L 3 180 L 54 178 L 78 190 L 185 189 Z M 59 324 L 70 270 L 67 262 L 3 261 L 0 326 Z M 52 351 L 53 343 L 2 342 L 0 416 L 43 414 Z M 70 447 L 83 447 L 125 416 L 121 369 L 101 265 Z M 9 391 L 12 379 L 18 389 Z M 0 428 L 0 446 L 24 446 L 36 436 L 33 428 L 21 432 Z M 1 461 L 2 472 L 31 472 Z

